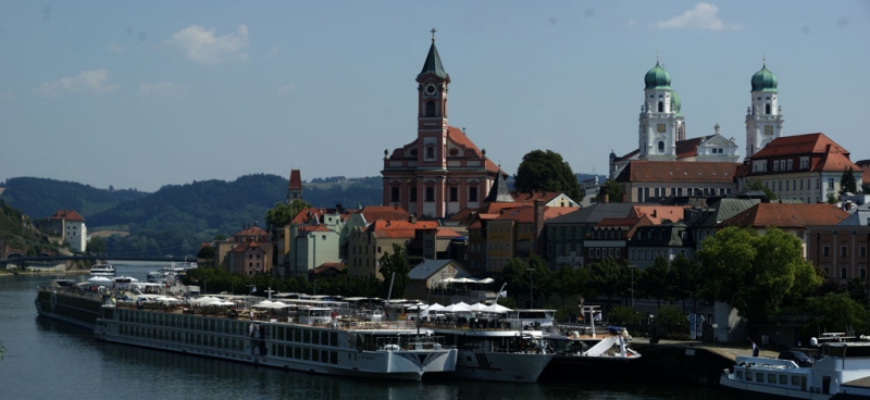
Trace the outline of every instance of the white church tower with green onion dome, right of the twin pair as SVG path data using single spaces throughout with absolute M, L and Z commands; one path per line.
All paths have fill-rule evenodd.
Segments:
M 746 109 L 746 157 L 782 136 L 782 108 L 776 100 L 776 75 L 768 70 L 767 60 L 761 71 L 753 75 L 751 105 Z

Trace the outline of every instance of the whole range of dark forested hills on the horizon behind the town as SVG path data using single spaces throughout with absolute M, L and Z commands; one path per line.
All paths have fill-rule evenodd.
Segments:
M 378 204 L 383 193 L 381 177 L 316 180 L 303 185 L 304 200 L 314 207 Z M 232 235 L 253 222 L 264 227 L 266 210 L 287 199 L 287 179 L 268 174 L 169 185 L 153 193 L 38 178 L 12 178 L 4 187 L 0 199 L 33 220 L 76 210 L 90 232 L 129 233 L 107 239 L 110 253 L 142 255 L 196 254 L 200 242 L 217 234 Z

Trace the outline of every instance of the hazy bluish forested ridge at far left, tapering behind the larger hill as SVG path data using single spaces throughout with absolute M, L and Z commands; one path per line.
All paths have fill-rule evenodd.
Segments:
M 98 189 L 75 182 L 32 177 L 9 178 L 3 188 L 0 199 L 32 220 L 54 215 L 58 210 L 75 210 L 87 217 L 148 195 L 135 189 Z

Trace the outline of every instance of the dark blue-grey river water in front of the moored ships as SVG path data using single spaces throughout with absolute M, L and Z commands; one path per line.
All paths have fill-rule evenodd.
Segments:
M 145 279 L 154 263 L 113 263 Z M 87 276 L 79 276 L 85 279 Z M 50 276 L 0 278 L 0 399 L 701 399 L 733 400 L 713 388 L 626 382 L 403 383 L 310 375 L 96 341 L 92 334 L 38 317 L 37 285 Z

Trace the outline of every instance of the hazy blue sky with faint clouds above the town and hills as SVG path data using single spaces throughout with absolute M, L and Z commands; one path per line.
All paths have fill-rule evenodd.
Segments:
M 784 136 L 870 159 L 870 1 L 4 0 L 0 183 L 377 176 L 417 137 L 433 28 L 450 125 L 510 174 L 536 149 L 606 174 L 657 54 L 689 138 L 719 123 L 744 155 L 766 60 Z

